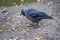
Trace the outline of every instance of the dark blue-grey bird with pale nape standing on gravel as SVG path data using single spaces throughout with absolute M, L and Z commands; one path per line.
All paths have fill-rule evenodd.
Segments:
M 27 17 L 33 23 L 37 23 L 37 26 L 38 26 L 38 22 L 42 19 L 53 19 L 51 16 L 48 16 L 44 12 L 40 12 L 36 9 L 24 8 L 21 10 L 21 15 Z

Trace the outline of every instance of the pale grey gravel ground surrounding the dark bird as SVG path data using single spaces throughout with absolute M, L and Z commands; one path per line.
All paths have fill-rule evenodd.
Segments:
M 20 16 L 22 8 L 34 8 L 52 16 L 54 20 L 43 19 L 39 28 L 27 27 L 32 22 Z M 5 7 L 0 9 L 0 40 L 60 40 L 60 9 L 59 5 L 30 3 L 24 6 Z M 58 10 L 58 11 L 57 11 Z

